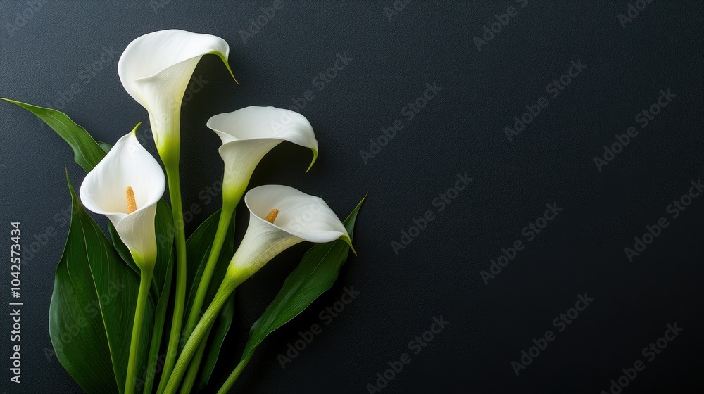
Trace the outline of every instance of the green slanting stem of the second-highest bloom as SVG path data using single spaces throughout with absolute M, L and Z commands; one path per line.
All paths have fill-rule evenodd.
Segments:
M 203 302 L 206 299 L 206 293 L 208 293 L 210 279 L 213 278 L 213 271 L 215 271 L 215 265 L 217 265 L 218 259 L 220 258 L 220 250 L 222 250 L 222 244 L 225 243 L 227 229 L 230 228 L 230 221 L 232 220 L 232 214 L 234 213 L 235 205 L 237 205 L 237 203 L 231 204 L 225 202 L 222 206 L 222 210 L 220 210 L 218 230 L 215 231 L 215 239 L 213 240 L 213 246 L 210 248 L 208 262 L 206 262 L 206 267 L 203 269 L 203 276 L 201 277 L 201 282 L 198 284 L 198 290 L 196 290 L 196 297 L 193 300 L 191 312 L 188 315 L 186 332 L 183 336 L 185 339 L 191 336 L 191 331 L 193 331 L 193 329 L 196 327 L 196 324 L 198 323 L 198 318 L 201 315 L 201 308 L 203 307 Z

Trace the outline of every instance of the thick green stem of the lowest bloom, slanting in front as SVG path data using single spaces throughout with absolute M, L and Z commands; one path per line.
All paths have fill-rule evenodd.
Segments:
M 215 318 L 218 317 L 218 313 L 222 309 L 222 305 L 225 304 L 227 298 L 230 297 L 234 288 L 241 283 L 241 280 L 232 279 L 225 277 L 218 288 L 218 293 L 215 293 L 215 298 L 213 298 L 213 303 L 206 310 L 206 313 L 201 317 L 201 321 L 196 325 L 196 329 L 191 333 L 191 337 L 188 338 L 186 345 L 183 347 L 183 351 L 178 358 L 178 362 L 173 369 L 169 383 L 164 390 L 165 394 L 175 394 L 178 389 L 179 383 L 181 383 L 181 378 L 186 373 L 191 358 L 198 350 L 201 341 L 206 339 L 206 333 L 210 332 L 210 327 L 213 326 Z

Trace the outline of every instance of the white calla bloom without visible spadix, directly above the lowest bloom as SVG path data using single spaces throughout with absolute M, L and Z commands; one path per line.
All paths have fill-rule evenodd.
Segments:
M 222 189 L 226 198 L 239 201 L 259 160 L 272 148 L 289 141 L 310 148 L 318 158 L 318 140 L 310 122 L 291 110 L 250 106 L 210 117 L 207 126 L 220 136 L 218 150 L 225 162 Z

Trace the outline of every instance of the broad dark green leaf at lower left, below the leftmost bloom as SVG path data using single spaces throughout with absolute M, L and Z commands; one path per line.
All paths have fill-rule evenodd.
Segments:
M 122 393 L 139 278 L 82 208 L 70 183 L 69 190 L 71 224 L 56 267 L 49 336 L 59 362 L 83 390 Z M 148 303 L 144 338 L 151 333 L 152 315 L 153 305 Z M 138 370 L 144 365 L 147 343 L 142 343 Z

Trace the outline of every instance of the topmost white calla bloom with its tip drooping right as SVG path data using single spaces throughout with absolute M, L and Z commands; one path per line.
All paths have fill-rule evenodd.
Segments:
M 227 64 L 229 53 L 230 46 L 220 37 L 175 29 L 144 34 L 122 52 L 120 81 L 149 112 L 154 141 L 163 159 L 169 154 L 177 158 L 181 102 L 196 65 L 203 55 L 214 54 L 232 74 Z

